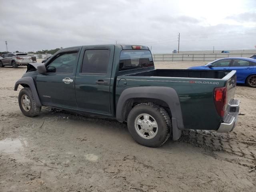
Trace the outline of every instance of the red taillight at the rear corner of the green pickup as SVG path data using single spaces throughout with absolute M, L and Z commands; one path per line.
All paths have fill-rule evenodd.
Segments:
M 214 104 L 219 116 L 224 117 L 227 103 L 227 88 L 217 87 L 214 89 Z

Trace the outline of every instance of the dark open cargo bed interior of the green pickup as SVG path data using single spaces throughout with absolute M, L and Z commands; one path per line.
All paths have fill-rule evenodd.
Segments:
M 219 70 L 217 71 L 217 70 L 156 69 L 148 72 L 130 74 L 130 76 L 222 79 L 229 72 L 230 71 L 219 71 Z

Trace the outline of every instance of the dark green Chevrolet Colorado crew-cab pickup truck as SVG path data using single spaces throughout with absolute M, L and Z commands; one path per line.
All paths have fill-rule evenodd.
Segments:
M 136 142 L 164 144 L 182 130 L 234 129 L 236 71 L 155 69 L 147 46 L 64 48 L 45 64 L 28 64 L 18 102 L 29 117 L 50 106 L 127 122 Z

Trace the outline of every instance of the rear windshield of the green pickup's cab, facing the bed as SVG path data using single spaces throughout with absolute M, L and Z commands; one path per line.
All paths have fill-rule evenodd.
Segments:
M 122 50 L 119 71 L 154 66 L 149 50 Z

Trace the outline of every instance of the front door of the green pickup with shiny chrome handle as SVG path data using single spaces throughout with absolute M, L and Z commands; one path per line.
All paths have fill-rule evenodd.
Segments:
M 63 50 L 46 64 L 46 74 L 38 74 L 36 86 L 42 103 L 77 109 L 75 74 L 80 49 Z

